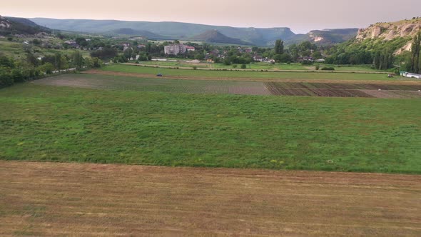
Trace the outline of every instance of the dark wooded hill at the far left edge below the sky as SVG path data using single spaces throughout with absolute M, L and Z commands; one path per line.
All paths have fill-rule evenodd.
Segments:
M 49 33 L 51 30 L 24 18 L 0 16 L 0 35 Z

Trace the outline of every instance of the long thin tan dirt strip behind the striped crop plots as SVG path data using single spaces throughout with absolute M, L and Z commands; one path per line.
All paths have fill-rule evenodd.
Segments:
M 88 70 L 83 71 L 84 74 L 102 74 L 102 75 L 111 75 L 111 76 L 133 76 L 139 78 L 156 78 L 155 74 L 138 74 L 138 73 L 128 73 L 120 71 L 102 71 L 102 70 Z M 331 80 L 331 79 L 257 79 L 257 78 L 239 78 L 239 77 L 207 77 L 207 76 L 163 76 L 161 79 L 186 79 L 186 80 L 206 80 L 206 81 L 285 81 L 285 82 L 314 82 L 314 83 L 332 83 L 337 82 L 341 84 L 399 84 L 399 85 L 421 85 L 420 81 L 370 81 L 370 80 Z

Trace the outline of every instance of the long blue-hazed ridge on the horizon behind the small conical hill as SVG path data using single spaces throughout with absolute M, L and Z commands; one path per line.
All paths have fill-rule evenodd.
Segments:
M 188 40 L 203 32 L 217 30 L 220 34 L 234 39 L 240 39 L 258 46 L 275 44 L 276 39 L 290 39 L 295 36 L 287 27 L 259 29 L 238 28 L 230 26 L 209 26 L 181 22 L 150 22 L 150 21 L 115 21 L 115 20 L 83 20 L 83 19 L 31 19 L 36 24 L 51 29 L 78 31 L 101 34 L 118 29 L 133 29 L 133 31 L 148 31 L 168 39 Z

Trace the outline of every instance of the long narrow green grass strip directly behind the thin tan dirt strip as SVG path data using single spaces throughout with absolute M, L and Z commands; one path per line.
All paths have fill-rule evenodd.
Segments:
M 340 72 L 266 72 L 266 71 L 208 71 L 189 69 L 163 69 L 147 66 L 113 64 L 102 68 L 104 71 L 119 71 L 139 74 L 164 74 L 165 76 L 223 77 L 252 79 L 331 79 L 397 81 L 403 78 L 387 78 L 385 74 L 350 74 Z M 408 79 L 410 81 L 410 79 Z

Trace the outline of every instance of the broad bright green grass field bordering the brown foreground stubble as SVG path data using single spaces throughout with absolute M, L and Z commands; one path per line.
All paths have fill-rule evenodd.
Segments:
M 0 158 L 421 173 L 420 102 L 17 84 L 0 90 Z

